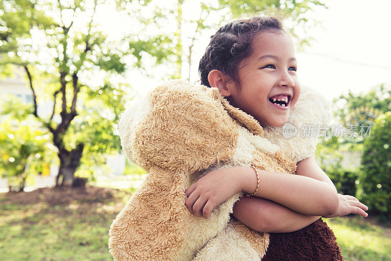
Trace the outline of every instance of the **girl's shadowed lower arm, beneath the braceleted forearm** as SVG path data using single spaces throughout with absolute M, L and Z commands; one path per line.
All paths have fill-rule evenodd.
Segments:
M 265 198 L 241 197 L 233 215 L 246 226 L 269 233 L 288 233 L 312 224 L 320 216 L 307 216 Z

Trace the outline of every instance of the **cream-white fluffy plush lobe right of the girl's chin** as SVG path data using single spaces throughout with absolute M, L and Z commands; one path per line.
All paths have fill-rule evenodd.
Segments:
M 295 161 L 315 155 L 318 138 L 331 121 L 331 103 L 318 91 L 303 87 L 283 127 L 263 128 L 265 138 L 291 153 Z

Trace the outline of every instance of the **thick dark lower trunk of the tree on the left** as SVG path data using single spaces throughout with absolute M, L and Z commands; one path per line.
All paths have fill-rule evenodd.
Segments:
M 72 186 L 74 175 L 77 167 L 80 165 L 80 159 L 83 155 L 84 144 L 78 144 L 76 149 L 67 151 L 65 149 L 59 151 L 58 156 L 60 158 L 60 168 L 58 170 L 56 178 L 56 187 L 59 186 L 59 177 L 62 176 L 63 180 L 61 186 Z

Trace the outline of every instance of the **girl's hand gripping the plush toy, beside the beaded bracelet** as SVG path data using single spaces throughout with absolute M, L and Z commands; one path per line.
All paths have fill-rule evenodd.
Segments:
M 241 191 L 236 167 L 211 171 L 185 191 L 190 213 L 207 218 L 212 210 Z

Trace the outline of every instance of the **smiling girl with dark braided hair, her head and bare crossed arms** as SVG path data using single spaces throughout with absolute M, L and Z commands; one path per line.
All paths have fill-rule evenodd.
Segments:
M 301 90 L 296 71 L 293 42 L 281 22 L 270 17 L 221 27 L 199 63 L 201 83 L 217 87 L 262 127 L 281 127 L 288 121 Z M 260 232 L 297 231 L 322 216 L 368 216 L 368 207 L 355 197 L 337 194 L 314 156 L 297 163 L 296 175 L 250 167 L 212 171 L 186 190 L 186 206 L 198 217 L 209 217 L 240 191 L 252 196 L 235 203 L 233 216 Z

